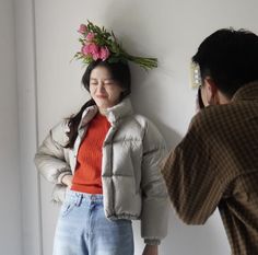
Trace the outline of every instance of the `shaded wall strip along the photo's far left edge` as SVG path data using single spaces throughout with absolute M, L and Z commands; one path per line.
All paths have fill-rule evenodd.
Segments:
M 21 255 L 14 7 L 0 0 L 0 253 Z

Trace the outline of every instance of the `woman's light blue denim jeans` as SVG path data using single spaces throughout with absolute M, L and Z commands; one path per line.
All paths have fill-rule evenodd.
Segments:
M 69 190 L 57 222 L 54 255 L 133 255 L 130 220 L 108 220 L 103 195 Z

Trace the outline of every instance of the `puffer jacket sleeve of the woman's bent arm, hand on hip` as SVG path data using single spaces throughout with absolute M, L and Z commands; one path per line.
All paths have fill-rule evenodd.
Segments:
M 55 126 L 43 141 L 35 154 L 35 164 L 40 174 L 50 183 L 61 184 L 64 175 L 71 174 L 69 163 L 64 158 L 64 148 L 68 142 L 66 120 Z

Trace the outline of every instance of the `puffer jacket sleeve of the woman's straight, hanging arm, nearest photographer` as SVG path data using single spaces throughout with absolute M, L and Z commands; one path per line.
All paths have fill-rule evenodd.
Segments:
M 165 141 L 156 127 L 146 123 L 143 138 L 141 235 L 148 244 L 160 244 L 167 234 L 168 195 L 161 174 L 166 157 Z

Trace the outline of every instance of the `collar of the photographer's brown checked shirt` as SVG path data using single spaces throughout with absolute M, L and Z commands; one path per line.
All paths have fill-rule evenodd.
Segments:
M 232 101 L 258 100 L 258 81 L 250 82 L 236 91 Z

